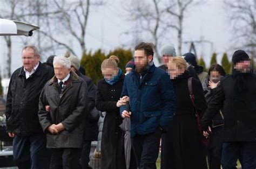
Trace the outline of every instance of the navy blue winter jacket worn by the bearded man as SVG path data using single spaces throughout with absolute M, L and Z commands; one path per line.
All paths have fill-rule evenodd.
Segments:
M 144 76 L 134 69 L 124 80 L 122 96 L 130 97 L 131 137 L 165 128 L 174 116 L 175 95 L 170 76 L 152 65 Z M 120 108 L 120 112 L 125 109 Z

